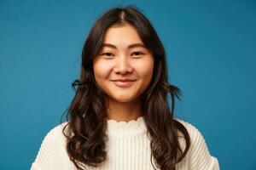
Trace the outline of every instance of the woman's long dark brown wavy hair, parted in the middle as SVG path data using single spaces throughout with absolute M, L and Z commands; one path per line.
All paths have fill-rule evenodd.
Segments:
M 141 94 L 143 120 L 147 125 L 147 135 L 151 139 L 151 164 L 154 156 L 156 165 L 161 170 L 175 169 L 190 146 L 187 129 L 174 119 L 175 99 L 180 99 L 181 90 L 167 82 L 165 49 L 149 20 L 134 6 L 115 7 L 102 14 L 92 26 L 84 43 L 80 78 L 72 83 L 75 96 L 65 111 L 67 125 L 62 130 L 67 138 L 68 156 L 78 169 L 86 167 L 84 165 L 97 167 L 107 158 L 105 141 L 108 136 L 105 132 L 108 126 L 108 96 L 96 85 L 92 61 L 100 53 L 108 27 L 124 23 L 134 26 L 145 46 L 154 55 L 153 78 Z M 171 110 L 167 93 L 171 94 Z M 177 131 L 185 139 L 184 150 L 178 142 Z

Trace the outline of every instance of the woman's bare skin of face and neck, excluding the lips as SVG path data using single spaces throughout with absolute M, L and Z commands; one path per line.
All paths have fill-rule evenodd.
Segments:
M 101 52 L 93 60 L 96 83 L 109 99 L 108 120 L 130 122 L 143 116 L 140 95 L 151 82 L 154 70 L 153 54 L 144 45 L 136 29 L 125 23 L 108 28 L 104 35 Z M 115 47 L 115 48 L 114 48 Z M 116 86 L 113 80 L 136 80 L 129 87 Z

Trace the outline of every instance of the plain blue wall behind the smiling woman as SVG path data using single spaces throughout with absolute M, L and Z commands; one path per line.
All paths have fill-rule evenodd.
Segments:
M 183 90 L 177 116 L 200 129 L 221 169 L 256 169 L 255 1 L 0 1 L 0 169 L 28 169 L 73 99 L 80 54 L 114 5 L 143 9 Z

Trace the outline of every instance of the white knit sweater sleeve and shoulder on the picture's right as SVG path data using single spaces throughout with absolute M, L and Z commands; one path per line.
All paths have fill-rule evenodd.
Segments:
M 183 122 L 189 132 L 191 145 L 189 148 L 189 169 L 191 170 L 219 170 L 218 159 L 211 156 L 207 143 L 201 132 L 189 122 Z

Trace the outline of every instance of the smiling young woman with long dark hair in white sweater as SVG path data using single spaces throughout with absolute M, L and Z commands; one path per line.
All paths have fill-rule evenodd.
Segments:
M 149 20 L 131 6 L 108 10 L 84 44 L 67 122 L 45 136 L 31 169 L 218 170 L 200 131 L 174 117 L 181 91 L 166 71 Z

